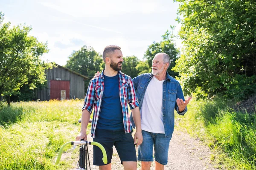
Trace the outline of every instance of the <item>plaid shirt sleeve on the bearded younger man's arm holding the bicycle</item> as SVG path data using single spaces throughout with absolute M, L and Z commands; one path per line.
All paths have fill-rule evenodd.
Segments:
M 88 88 L 87 88 L 86 96 L 85 96 L 85 99 L 84 99 L 84 106 L 82 108 L 82 111 L 84 109 L 86 109 L 87 111 L 92 113 L 93 106 L 94 106 L 94 101 L 95 101 L 95 84 L 91 80 L 89 85 L 88 85 Z

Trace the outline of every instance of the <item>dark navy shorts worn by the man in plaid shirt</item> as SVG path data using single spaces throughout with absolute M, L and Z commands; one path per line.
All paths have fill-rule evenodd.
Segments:
M 113 146 L 116 147 L 118 156 L 123 161 L 137 161 L 134 139 L 130 133 L 124 130 L 103 130 L 95 131 L 94 142 L 99 142 L 105 147 L 108 157 L 108 163 L 111 163 L 113 155 Z M 103 154 L 99 147 L 93 145 L 93 164 L 97 166 L 105 165 L 102 161 Z

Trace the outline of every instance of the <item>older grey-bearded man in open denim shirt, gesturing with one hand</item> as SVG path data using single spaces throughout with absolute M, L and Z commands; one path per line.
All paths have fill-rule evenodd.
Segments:
M 137 160 L 142 161 L 142 170 L 150 170 L 153 146 L 155 169 L 164 169 L 174 130 L 174 110 L 184 115 L 187 111 L 186 105 L 192 98 L 184 100 L 180 83 L 169 76 L 167 69 L 170 62 L 167 54 L 158 53 L 152 62 L 152 73 L 141 74 L 133 79 L 140 102 L 143 142 L 139 146 Z M 132 116 L 131 122 L 134 122 Z

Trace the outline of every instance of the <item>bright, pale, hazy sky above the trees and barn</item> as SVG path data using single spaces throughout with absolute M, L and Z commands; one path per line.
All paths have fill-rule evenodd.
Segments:
M 118 45 L 123 56 L 143 60 L 148 45 L 180 24 L 173 0 L 0 0 L 4 22 L 31 26 L 31 36 L 47 42 L 47 62 L 66 65 L 73 51 L 87 45 L 102 54 L 105 46 Z M 175 40 L 181 47 L 181 40 Z

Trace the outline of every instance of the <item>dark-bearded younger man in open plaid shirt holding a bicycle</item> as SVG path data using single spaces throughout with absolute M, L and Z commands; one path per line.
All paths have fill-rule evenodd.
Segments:
M 103 54 L 105 69 L 99 77 L 93 78 L 87 89 L 82 108 L 81 131 L 76 140 L 87 139 L 87 125 L 94 108 L 92 121 L 93 141 L 105 147 L 108 163 L 102 161 L 102 153 L 93 146 L 93 164 L 100 170 L 111 170 L 113 145 L 125 170 L 136 170 L 137 159 L 134 144 L 139 146 L 142 141 L 140 128 L 139 102 L 135 94 L 131 77 L 123 74 L 122 51 L 116 45 L 105 47 Z M 137 126 L 134 139 L 131 136 L 132 126 L 129 119 L 128 105 L 131 108 L 134 122 Z

